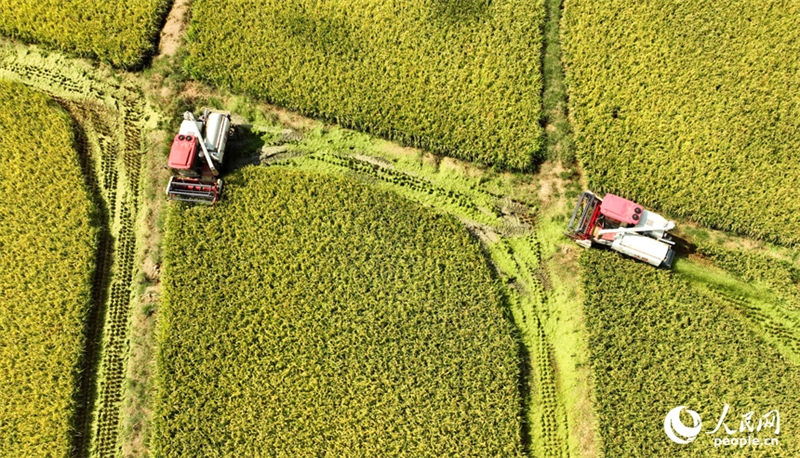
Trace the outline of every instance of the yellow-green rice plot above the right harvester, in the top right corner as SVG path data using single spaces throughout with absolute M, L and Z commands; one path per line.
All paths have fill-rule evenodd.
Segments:
M 792 0 L 567 2 L 577 153 L 593 188 L 800 243 Z

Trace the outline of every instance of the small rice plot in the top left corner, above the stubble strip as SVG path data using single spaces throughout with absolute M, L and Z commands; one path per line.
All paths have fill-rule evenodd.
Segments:
M 135 67 L 155 50 L 168 0 L 2 0 L 0 33 L 117 67 Z

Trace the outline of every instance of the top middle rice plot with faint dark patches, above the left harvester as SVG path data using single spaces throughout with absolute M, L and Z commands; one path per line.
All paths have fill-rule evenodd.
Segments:
M 513 169 L 542 154 L 543 0 L 197 0 L 191 74 Z

